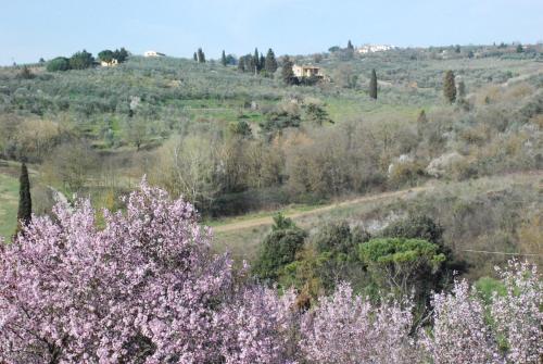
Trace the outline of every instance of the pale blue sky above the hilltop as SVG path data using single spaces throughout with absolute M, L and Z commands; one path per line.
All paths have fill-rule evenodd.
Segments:
M 543 40 L 543 0 L 0 0 L 0 64 L 126 47 L 207 58 Z

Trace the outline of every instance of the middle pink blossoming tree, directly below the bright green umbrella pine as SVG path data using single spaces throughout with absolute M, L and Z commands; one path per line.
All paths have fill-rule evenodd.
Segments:
M 301 325 L 301 351 L 310 363 L 409 363 L 414 341 L 412 306 L 383 302 L 374 306 L 340 285 L 321 298 Z

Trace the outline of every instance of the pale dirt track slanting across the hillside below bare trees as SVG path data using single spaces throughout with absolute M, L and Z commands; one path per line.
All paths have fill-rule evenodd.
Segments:
M 383 193 L 379 193 L 379 194 L 365 196 L 365 197 L 356 198 L 353 200 L 348 200 L 348 201 L 343 201 L 343 202 L 339 202 L 339 203 L 332 203 L 332 204 L 329 204 L 329 205 L 326 205 L 323 208 L 316 208 L 316 209 L 311 210 L 311 211 L 301 211 L 301 212 L 294 212 L 294 213 L 290 213 L 290 214 L 286 213 L 285 216 L 290 217 L 290 218 L 298 218 L 298 217 L 319 214 L 319 213 L 330 211 L 333 209 L 344 208 L 344 206 L 349 206 L 349 205 L 357 204 L 357 203 L 363 203 L 363 202 L 372 202 L 372 201 L 391 199 L 391 198 L 403 198 L 409 193 L 425 191 L 425 190 L 428 190 L 430 188 L 431 188 L 431 186 L 421 186 L 421 187 L 413 187 L 413 188 L 404 189 L 404 190 L 400 190 L 400 191 L 392 191 L 392 192 L 383 192 Z M 213 231 L 226 233 L 226 231 L 238 230 L 238 229 L 247 229 L 247 228 L 261 226 L 261 225 L 272 225 L 273 223 L 274 223 L 273 216 L 256 217 L 256 218 L 251 218 L 251 219 L 247 219 L 247 221 L 233 222 L 230 224 L 214 226 Z

